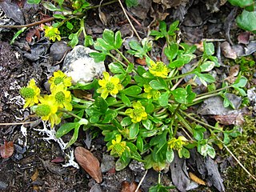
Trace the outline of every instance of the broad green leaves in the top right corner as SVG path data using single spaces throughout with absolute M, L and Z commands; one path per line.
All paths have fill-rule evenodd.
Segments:
M 256 1 L 255 0 L 228 0 L 232 6 L 241 7 L 242 14 L 236 18 L 236 22 L 243 30 L 256 33 Z

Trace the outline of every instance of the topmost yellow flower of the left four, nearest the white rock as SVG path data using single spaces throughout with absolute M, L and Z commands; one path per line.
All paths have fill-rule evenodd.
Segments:
M 63 85 L 65 87 L 71 86 L 72 78 L 67 77 L 61 70 L 55 71 L 54 76 L 49 79 L 50 90 L 52 91 L 55 86 Z

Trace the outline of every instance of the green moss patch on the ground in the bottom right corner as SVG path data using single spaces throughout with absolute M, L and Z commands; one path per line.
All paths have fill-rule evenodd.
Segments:
M 242 165 L 249 170 L 250 174 L 256 175 L 256 121 L 255 118 L 246 117 L 242 135 L 235 138 L 228 146 Z M 229 155 L 229 154 L 228 154 Z M 233 191 L 256 191 L 256 182 L 238 164 L 226 170 L 224 179 L 226 192 Z

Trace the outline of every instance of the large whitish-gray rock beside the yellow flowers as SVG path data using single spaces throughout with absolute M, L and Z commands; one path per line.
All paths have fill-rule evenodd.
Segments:
M 85 46 L 75 46 L 70 53 L 66 54 L 62 71 L 72 78 L 73 83 L 91 82 L 106 71 L 104 62 L 94 62 L 94 58 L 90 58 L 91 52 L 95 50 Z

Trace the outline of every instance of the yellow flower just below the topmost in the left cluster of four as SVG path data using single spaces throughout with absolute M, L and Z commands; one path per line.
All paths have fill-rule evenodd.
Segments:
M 65 89 L 63 85 L 55 86 L 51 94 L 54 95 L 55 101 L 58 103 L 58 107 L 66 108 L 66 110 L 71 111 L 71 94 L 70 91 Z

